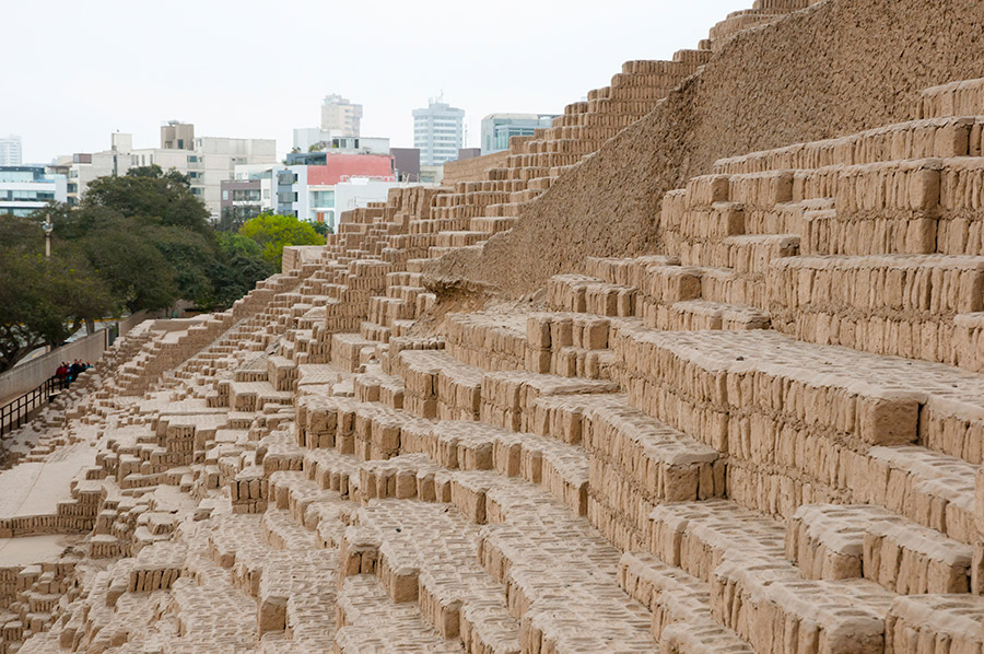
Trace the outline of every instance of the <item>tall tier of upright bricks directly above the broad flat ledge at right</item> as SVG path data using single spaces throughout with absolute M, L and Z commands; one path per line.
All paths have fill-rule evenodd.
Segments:
M 800 340 L 984 372 L 956 318 L 984 311 L 984 257 L 804 256 L 773 264 L 775 328 Z

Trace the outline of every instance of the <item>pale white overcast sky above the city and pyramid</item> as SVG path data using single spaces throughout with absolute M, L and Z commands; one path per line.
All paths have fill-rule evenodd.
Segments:
M 752 0 L 0 0 L 0 136 L 24 161 L 156 148 L 169 119 L 196 136 L 277 139 L 315 127 L 321 98 L 362 103 L 363 136 L 412 147 L 410 112 L 442 91 L 483 116 L 561 113 L 628 59 L 666 59 Z

